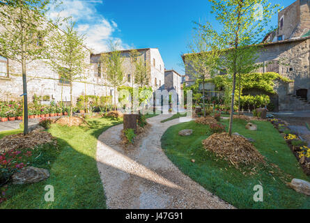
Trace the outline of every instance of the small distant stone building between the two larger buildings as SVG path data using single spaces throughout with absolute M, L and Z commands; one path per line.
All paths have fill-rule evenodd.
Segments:
M 182 76 L 176 70 L 164 71 L 164 89 L 167 91 L 175 90 L 178 94 L 178 100 L 181 97 Z

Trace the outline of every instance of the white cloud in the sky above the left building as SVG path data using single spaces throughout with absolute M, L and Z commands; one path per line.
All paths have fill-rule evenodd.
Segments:
M 115 32 L 119 31 L 118 24 L 113 20 L 107 20 L 96 10 L 95 6 L 101 3 L 100 0 L 63 0 L 59 8 L 51 7 L 49 17 L 52 20 L 72 17 L 72 21 L 77 24 L 77 31 L 85 35 L 86 45 L 94 52 L 107 51 L 109 41 L 118 42 L 121 49 L 130 48 L 121 39 L 114 37 Z

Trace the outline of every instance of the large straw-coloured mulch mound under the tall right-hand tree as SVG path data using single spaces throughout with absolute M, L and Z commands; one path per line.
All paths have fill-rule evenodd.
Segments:
M 231 162 L 238 169 L 239 164 L 256 166 L 259 163 L 265 164 L 265 158 L 247 139 L 224 132 L 212 134 L 208 139 L 202 141 L 203 147 L 215 153 L 217 157 Z

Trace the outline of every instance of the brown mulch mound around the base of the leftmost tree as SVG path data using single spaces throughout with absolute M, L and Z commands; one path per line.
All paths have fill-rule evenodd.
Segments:
M 45 131 L 33 131 L 25 136 L 23 133 L 11 134 L 0 139 L 0 153 L 24 148 L 33 149 L 42 144 L 56 146 L 57 142 L 52 134 Z

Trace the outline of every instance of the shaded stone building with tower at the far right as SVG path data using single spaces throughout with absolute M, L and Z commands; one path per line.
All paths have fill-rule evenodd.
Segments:
M 275 112 L 310 110 L 310 0 L 297 0 L 278 15 L 278 29 L 263 39 L 258 52 L 258 63 L 265 66 L 258 72 L 277 72 L 291 83 L 275 82 L 271 100 Z M 186 55 L 183 55 L 184 63 Z M 193 84 L 190 66 L 185 68 L 185 83 Z M 219 74 L 221 75 L 221 74 Z M 215 86 L 209 84 L 207 91 Z M 251 94 L 256 92 L 255 89 Z

